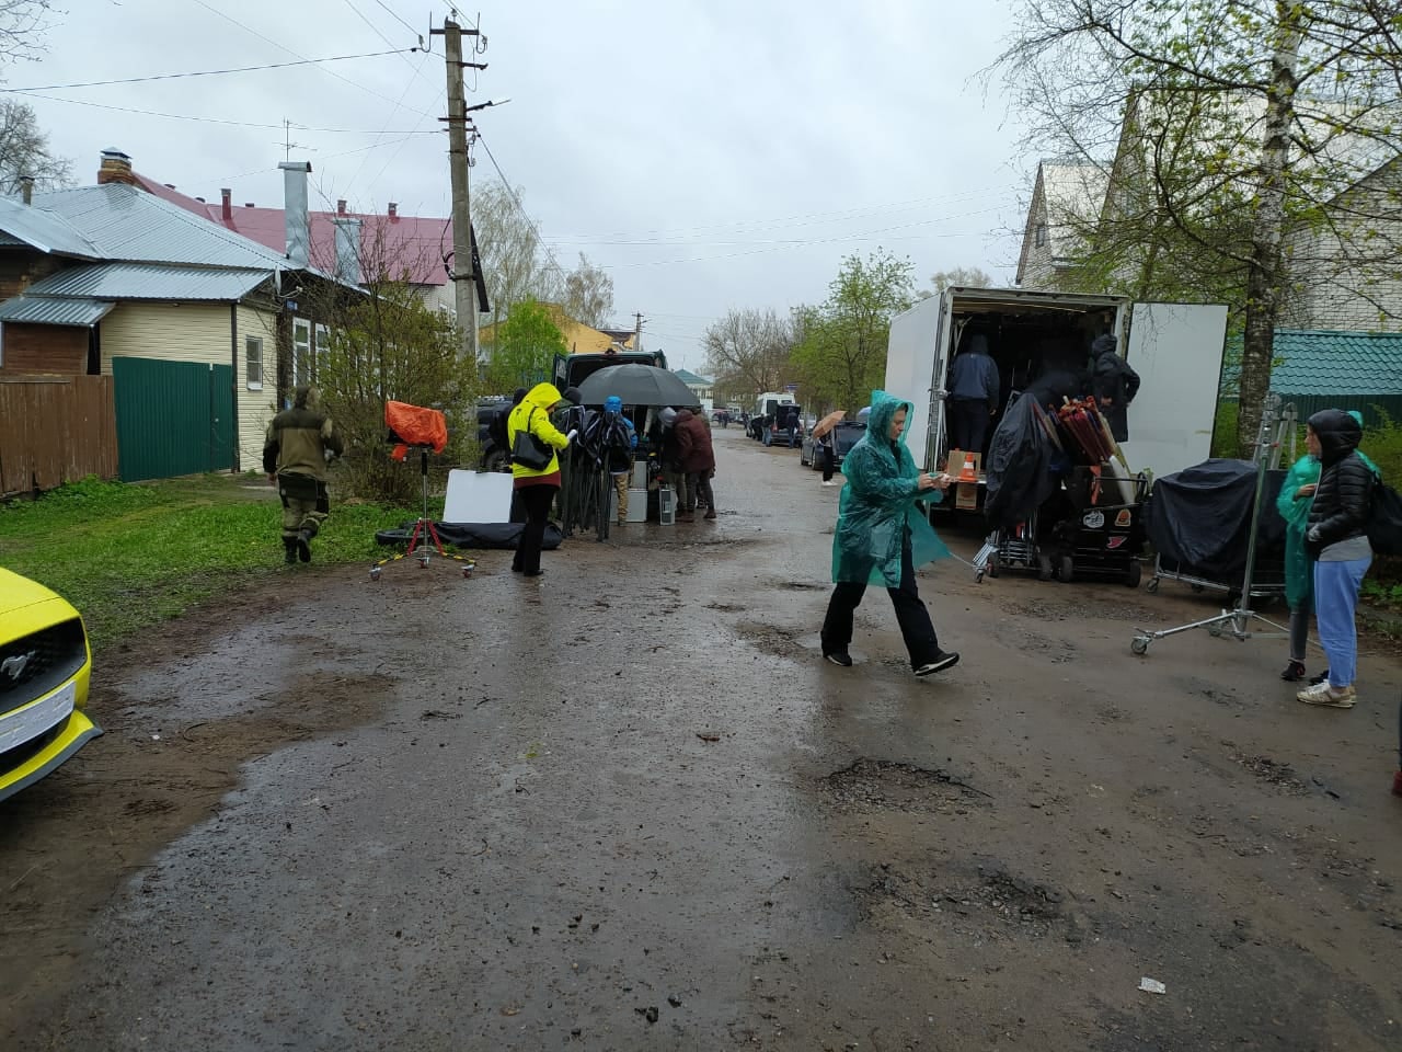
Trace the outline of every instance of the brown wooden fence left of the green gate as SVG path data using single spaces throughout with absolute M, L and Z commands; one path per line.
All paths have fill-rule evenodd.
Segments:
M 116 477 L 111 376 L 0 376 L 0 495 Z

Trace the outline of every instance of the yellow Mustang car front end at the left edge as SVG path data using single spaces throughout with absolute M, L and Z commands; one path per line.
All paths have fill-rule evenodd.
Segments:
M 102 734 L 83 713 L 91 670 L 79 612 L 0 568 L 0 800 Z

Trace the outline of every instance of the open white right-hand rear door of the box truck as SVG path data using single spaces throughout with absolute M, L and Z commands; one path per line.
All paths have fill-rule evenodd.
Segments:
M 1211 456 L 1227 307 L 1136 303 L 1131 310 L 1124 359 L 1140 375 L 1140 390 L 1122 449 L 1131 468 L 1159 478 Z

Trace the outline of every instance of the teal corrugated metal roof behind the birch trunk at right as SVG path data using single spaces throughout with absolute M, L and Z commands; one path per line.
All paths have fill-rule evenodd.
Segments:
M 1241 355 L 1241 337 L 1230 349 Z M 1402 394 L 1402 332 L 1277 328 L 1270 390 L 1286 398 L 1307 396 L 1366 398 Z M 1235 386 L 1238 366 L 1223 369 Z

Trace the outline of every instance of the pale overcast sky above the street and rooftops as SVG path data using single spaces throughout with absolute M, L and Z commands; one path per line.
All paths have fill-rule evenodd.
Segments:
M 1011 283 L 1035 160 L 1001 84 L 976 73 L 1009 8 L 953 0 L 479 0 L 468 105 L 564 268 L 614 278 L 617 325 L 702 370 L 733 307 L 817 303 L 844 255 L 878 245 L 921 282 L 981 267 Z M 415 0 L 66 0 L 7 87 L 259 66 L 416 45 Z M 227 11 L 227 14 L 226 14 Z M 402 21 L 401 21 L 402 20 Z M 412 32 L 411 32 L 412 27 Z M 283 119 L 315 206 L 449 215 L 442 38 L 432 53 L 25 95 L 81 184 L 98 153 L 219 199 L 280 206 Z M 100 108 L 101 107 L 119 107 Z M 128 109 L 199 119 L 174 119 Z M 332 130 L 335 129 L 335 130 Z M 495 175 L 481 144 L 474 180 Z

